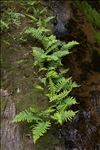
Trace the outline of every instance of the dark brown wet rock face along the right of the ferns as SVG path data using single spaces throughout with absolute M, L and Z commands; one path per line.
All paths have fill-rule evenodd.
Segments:
M 95 32 L 91 23 L 79 10 L 75 3 L 50 0 L 51 7 L 57 16 L 54 26 L 55 35 L 64 37 L 64 41 L 76 40 L 80 43 L 73 48 L 73 53 L 64 58 L 63 64 L 70 68 L 70 75 L 81 87 L 73 92 L 79 105 L 76 118 L 63 125 L 61 139 L 65 150 L 99 150 L 100 149 L 100 45 L 95 40 Z M 71 2 L 71 1 L 70 1 Z M 92 1 L 91 1 L 92 2 Z M 97 3 L 98 4 L 98 3 Z M 69 15 L 73 12 L 74 15 Z M 67 18 L 68 16 L 68 18 Z M 69 22 L 70 34 L 64 28 Z M 69 22 L 70 23 L 70 22 Z M 63 25 L 62 25 L 63 24 Z M 64 31 L 65 30 L 65 31 Z

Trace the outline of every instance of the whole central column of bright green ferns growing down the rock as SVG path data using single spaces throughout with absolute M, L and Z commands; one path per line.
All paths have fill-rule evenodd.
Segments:
M 34 13 L 36 18 L 39 17 L 36 16 L 37 13 Z M 51 18 L 46 19 L 45 25 L 38 24 L 36 27 L 26 28 L 23 32 L 40 43 L 40 46 L 32 47 L 34 67 L 38 68 L 37 78 L 40 81 L 36 88 L 44 92 L 48 106 L 39 111 L 31 107 L 16 115 L 13 122 L 26 121 L 33 124 L 31 128 L 35 143 L 47 132 L 52 123 L 62 124 L 70 121 L 77 113 L 69 110 L 73 104 L 77 104 L 76 99 L 70 97 L 69 93 L 78 85 L 72 81 L 71 77 L 64 77 L 68 69 L 62 68 L 62 58 L 70 54 L 69 50 L 78 42 L 65 43 L 57 40 L 46 27 Z M 35 20 L 33 17 L 31 19 Z

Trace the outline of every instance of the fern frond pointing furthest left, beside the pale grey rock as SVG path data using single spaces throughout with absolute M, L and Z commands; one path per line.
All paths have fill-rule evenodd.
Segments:
M 29 110 L 25 110 L 16 115 L 15 118 L 13 119 L 13 122 L 24 122 L 24 121 L 32 122 L 39 120 L 41 120 L 41 118 L 38 117 L 36 113 L 33 113 Z

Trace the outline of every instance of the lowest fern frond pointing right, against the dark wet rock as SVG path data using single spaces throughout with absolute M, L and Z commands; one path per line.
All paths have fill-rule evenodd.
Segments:
M 56 120 L 58 123 L 62 124 L 64 121 L 70 121 L 75 116 L 75 114 L 76 112 L 72 110 L 61 111 L 56 112 L 52 118 Z

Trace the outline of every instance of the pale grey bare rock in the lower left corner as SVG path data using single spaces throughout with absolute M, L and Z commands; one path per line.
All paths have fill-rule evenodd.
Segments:
M 15 116 L 15 104 L 11 97 L 6 99 L 7 105 L 2 114 L 1 122 L 1 149 L 2 150 L 23 150 L 19 126 L 12 123 Z

